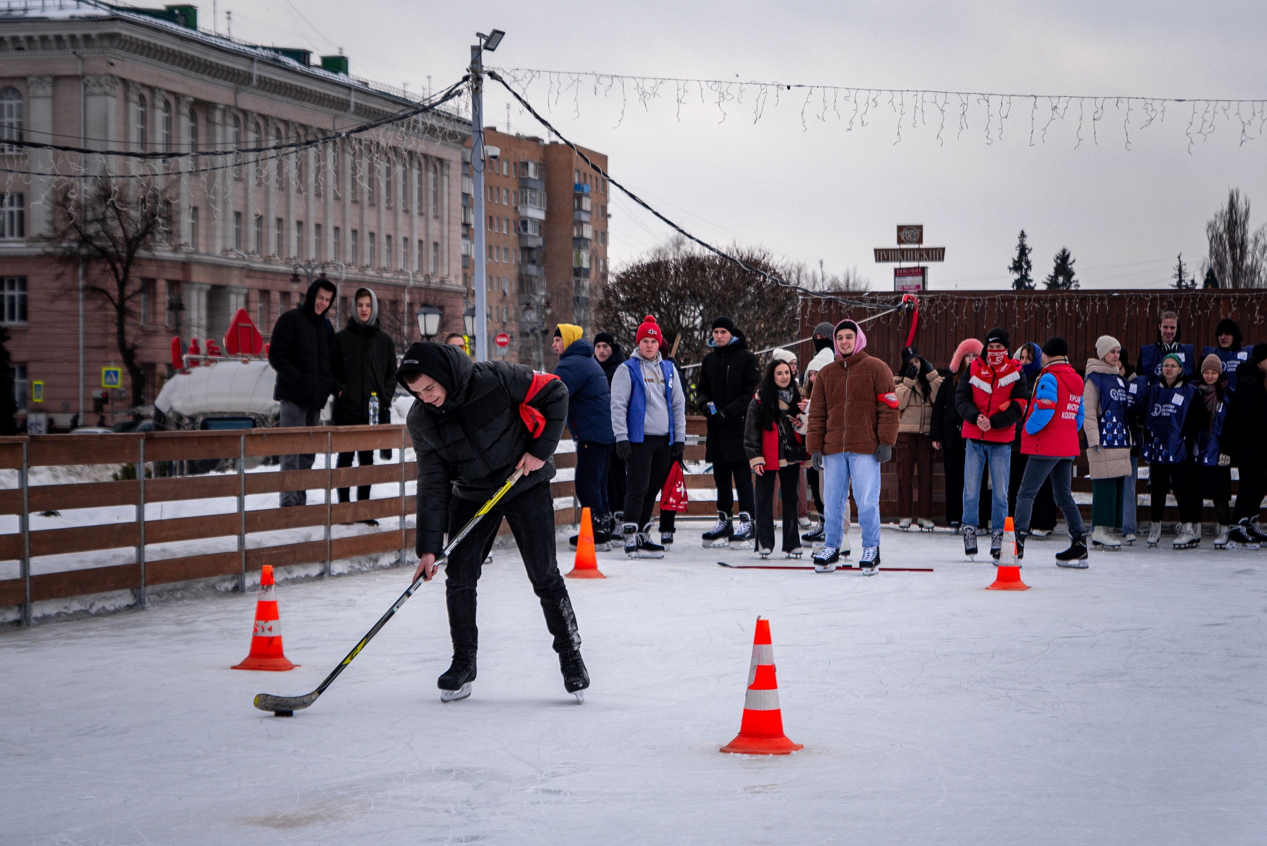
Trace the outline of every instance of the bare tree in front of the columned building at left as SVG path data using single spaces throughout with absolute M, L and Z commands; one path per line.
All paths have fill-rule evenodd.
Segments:
M 137 355 L 143 286 L 136 274 L 171 239 L 171 190 L 148 179 L 101 177 L 58 185 L 51 205 L 48 251 L 76 268 L 84 262 L 85 296 L 109 310 L 115 347 L 132 382 L 132 405 L 141 405 L 146 401 Z

